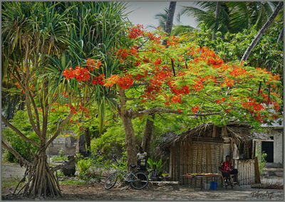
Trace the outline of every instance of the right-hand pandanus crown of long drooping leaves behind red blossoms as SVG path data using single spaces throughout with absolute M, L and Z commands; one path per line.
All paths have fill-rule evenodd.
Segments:
M 115 47 L 124 43 L 121 37 L 125 25 L 128 23 L 125 15 L 125 3 L 122 2 L 71 2 L 74 9 L 71 9 L 70 46 L 68 47 L 71 66 L 76 67 L 86 62 L 88 58 L 97 58 L 104 64 L 97 73 L 110 75 L 116 68 L 111 63 L 108 53 Z M 69 83 L 69 82 L 68 82 Z M 68 85 L 68 90 L 78 86 Z M 106 87 L 90 88 L 85 85 L 84 95 L 78 95 L 86 100 L 86 105 L 95 105 L 98 115 L 98 132 L 103 132 L 105 119 L 105 104 L 112 92 Z M 94 116 L 94 115 L 93 115 Z

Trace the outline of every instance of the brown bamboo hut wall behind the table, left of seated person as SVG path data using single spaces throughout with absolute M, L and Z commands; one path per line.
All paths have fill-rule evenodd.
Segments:
M 188 179 L 187 173 L 220 173 L 219 166 L 222 163 L 222 143 L 217 142 L 192 142 L 186 139 L 184 142 L 177 142 L 170 148 L 170 176 L 172 181 L 180 181 L 181 184 L 194 186 L 194 179 Z M 203 183 L 218 181 L 220 178 L 202 179 Z M 197 180 L 200 186 L 201 179 Z

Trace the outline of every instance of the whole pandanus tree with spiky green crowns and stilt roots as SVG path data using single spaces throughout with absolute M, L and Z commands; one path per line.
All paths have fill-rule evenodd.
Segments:
M 66 80 L 63 71 L 70 67 L 76 68 L 76 65 L 82 63 L 84 57 L 88 55 L 103 55 L 100 57 L 102 59 L 105 55 L 99 53 L 105 52 L 100 47 L 105 48 L 105 51 L 109 50 L 115 46 L 118 39 L 116 36 L 119 33 L 114 33 L 109 28 L 116 28 L 118 26 L 116 23 L 120 23 L 118 29 L 121 28 L 123 4 L 87 2 L 85 7 L 84 4 L 83 2 L 4 2 L 2 4 L 2 79 L 7 83 L 15 83 L 21 90 L 26 102 L 28 119 L 40 141 L 38 143 L 26 137 L 2 115 L 1 120 L 13 129 L 19 138 L 37 147 L 34 161 L 26 161 L 4 139 L 1 144 L 11 151 L 21 164 L 27 166 L 25 176 L 20 183 L 25 181 L 26 176 L 28 181 L 19 193 L 23 190 L 28 196 L 61 196 L 57 178 L 53 174 L 54 169 L 47 163 L 46 149 L 61 134 L 64 126 L 71 122 L 73 115 L 79 112 L 86 117 L 90 115 L 87 106 L 92 101 L 90 100 L 90 97 L 93 97 L 92 92 L 86 93 L 88 89 L 78 87 L 77 82 Z M 83 16 L 78 12 L 87 12 L 87 14 Z M 111 16 L 113 19 L 108 21 Z M 98 20 L 95 21 L 95 18 Z M 84 23 L 89 23 L 89 27 L 83 26 Z M 113 41 L 107 40 L 110 38 Z M 83 55 L 76 57 L 76 52 L 78 55 L 82 53 L 84 57 Z M 90 76 L 84 68 L 78 69 L 77 73 L 81 82 Z M 82 95 L 87 95 L 87 99 Z

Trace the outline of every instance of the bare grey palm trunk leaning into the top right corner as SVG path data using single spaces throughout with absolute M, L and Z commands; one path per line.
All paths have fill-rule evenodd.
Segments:
M 280 9 L 282 9 L 283 7 L 283 1 L 281 1 L 275 8 L 274 12 L 271 14 L 271 16 L 269 17 L 269 19 L 266 21 L 266 23 L 264 24 L 264 26 L 261 28 L 261 30 L 259 31 L 259 33 L 257 34 L 257 36 L 254 38 L 254 40 L 252 41 L 252 43 L 250 43 L 249 47 L 247 47 L 247 50 L 245 51 L 244 55 L 242 56 L 242 60 L 247 60 L 247 58 L 249 58 L 249 54 L 252 52 L 252 50 L 254 49 L 254 47 L 257 45 L 257 43 L 259 42 L 260 38 L 264 35 L 264 32 L 266 31 L 267 28 L 269 28 L 269 26 L 271 25 L 271 23 L 274 21 L 274 18 L 276 18 L 278 12 L 280 11 Z M 241 60 L 241 63 L 242 63 Z

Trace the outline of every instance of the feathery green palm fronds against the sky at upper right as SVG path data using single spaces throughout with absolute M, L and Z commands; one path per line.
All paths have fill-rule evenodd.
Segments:
M 220 4 L 217 4 L 217 3 Z M 182 14 L 193 16 L 201 26 L 202 22 L 213 33 L 237 33 L 244 28 L 256 26 L 259 30 L 272 14 L 274 2 L 244 1 L 198 1 L 196 6 L 184 6 Z M 216 17 L 218 16 L 218 18 Z

